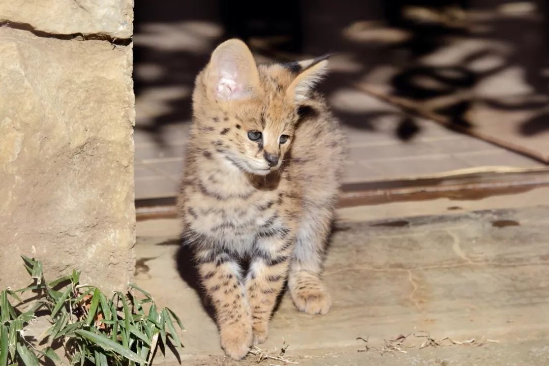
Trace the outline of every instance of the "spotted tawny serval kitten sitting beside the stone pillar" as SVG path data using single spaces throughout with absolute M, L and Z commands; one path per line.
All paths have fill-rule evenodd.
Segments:
M 257 66 L 242 41 L 229 40 L 195 83 L 178 203 L 183 242 L 235 359 L 267 339 L 286 279 L 300 311 L 332 305 L 321 272 L 344 141 L 312 91 L 327 65 L 324 57 Z

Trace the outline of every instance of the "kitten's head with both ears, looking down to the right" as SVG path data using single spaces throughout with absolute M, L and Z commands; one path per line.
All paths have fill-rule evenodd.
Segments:
M 251 174 L 278 170 L 292 145 L 299 105 L 326 64 L 316 59 L 258 69 L 244 43 L 222 43 L 199 77 L 205 88 L 197 84 L 194 98 L 195 114 L 212 114 L 198 123 L 214 122 L 207 129 L 215 152 Z

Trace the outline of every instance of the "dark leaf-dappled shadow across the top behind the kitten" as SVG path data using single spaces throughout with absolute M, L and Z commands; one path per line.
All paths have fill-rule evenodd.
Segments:
M 346 126 L 376 132 L 389 123 L 403 142 L 423 133 L 413 110 L 372 102 L 357 91 L 360 83 L 410 100 L 460 131 L 476 127 L 470 112 L 478 106 L 505 111 L 500 97 L 517 95 L 513 109 L 532 113 L 516 133 L 535 136 L 547 131 L 549 113 L 547 99 L 540 100 L 549 84 L 548 5 L 520 4 L 144 0 L 136 6 L 136 133 L 169 148 L 167 127 L 191 121 L 195 75 L 216 44 L 239 37 L 259 61 L 334 53 L 320 89 Z

